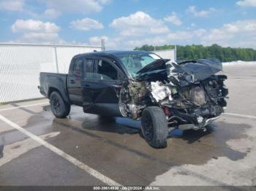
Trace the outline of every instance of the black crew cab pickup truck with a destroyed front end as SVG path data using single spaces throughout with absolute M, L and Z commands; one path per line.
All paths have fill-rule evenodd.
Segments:
M 40 73 L 40 92 L 56 117 L 70 105 L 83 112 L 141 120 L 151 147 L 167 146 L 170 130 L 206 128 L 224 112 L 228 90 L 217 59 L 172 62 L 146 51 L 76 55 L 69 74 Z

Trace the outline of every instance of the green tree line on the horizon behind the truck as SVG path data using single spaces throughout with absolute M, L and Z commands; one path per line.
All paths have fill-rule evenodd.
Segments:
M 167 50 L 173 49 L 173 44 L 165 44 L 163 46 L 152 46 L 145 44 L 142 47 L 135 47 L 134 50 Z M 218 44 L 211 46 L 203 45 L 177 45 L 177 60 L 191 60 L 199 58 L 218 58 L 222 62 L 230 61 L 256 61 L 256 50 L 252 48 L 233 48 L 221 47 Z

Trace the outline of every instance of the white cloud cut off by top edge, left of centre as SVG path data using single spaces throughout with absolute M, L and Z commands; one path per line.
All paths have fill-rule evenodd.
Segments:
M 60 12 L 84 13 L 100 12 L 108 0 L 46 0 L 48 9 L 57 9 Z

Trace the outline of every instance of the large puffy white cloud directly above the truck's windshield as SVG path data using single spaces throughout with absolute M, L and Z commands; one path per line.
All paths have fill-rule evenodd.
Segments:
M 157 20 L 145 12 L 135 12 L 127 17 L 118 17 L 110 27 L 120 31 L 121 36 L 142 36 L 145 34 L 165 34 L 169 28 L 162 20 Z

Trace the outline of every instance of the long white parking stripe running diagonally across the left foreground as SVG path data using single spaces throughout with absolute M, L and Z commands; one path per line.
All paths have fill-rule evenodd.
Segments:
M 42 140 L 41 138 L 39 138 L 39 136 L 35 136 L 33 133 L 30 133 L 28 130 L 21 128 L 15 122 L 8 120 L 6 117 L 2 116 L 1 114 L 0 114 L 0 120 L 3 120 L 8 125 L 11 125 L 12 128 L 19 130 L 21 133 L 24 133 L 26 136 L 29 136 L 31 139 L 34 139 L 35 141 L 39 142 L 39 144 L 42 144 L 43 146 L 47 147 L 51 151 L 55 152 L 57 155 L 68 160 L 70 163 L 78 166 L 78 168 L 82 169 L 83 171 L 86 171 L 88 174 L 90 174 L 91 176 L 94 176 L 96 179 L 99 179 L 100 181 L 104 182 L 105 184 L 108 184 L 110 186 L 121 186 L 121 184 L 118 184 L 117 182 L 113 181 L 112 179 L 108 178 L 107 176 L 99 173 L 98 171 L 94 170 L 93 168 L 89 167 L 88 165 L 80 162 L 80 160 L 75 159 L 75 157 L 68 155 L 66 152 L 63 152 L 61 149 L 58 149 L 57 147 L 54 147 L 52 144 L 49 144 L 48 142 Z

